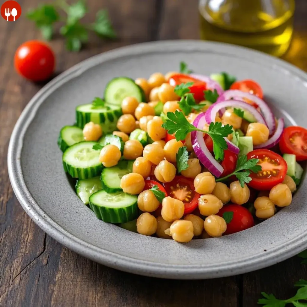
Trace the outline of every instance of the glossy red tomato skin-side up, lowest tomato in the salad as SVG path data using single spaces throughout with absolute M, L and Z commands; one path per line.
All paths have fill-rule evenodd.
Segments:
M 227 224 L 227 229 L 224 232 L 224 235 L 230 235 L 251 228 L 255 225 L 254 218 L 247 208 L 237 204 L 228 204 L 223 206 L 217 215 L 223 217 L 225 212 L 233 212 L 233 217 L 230 223 Z

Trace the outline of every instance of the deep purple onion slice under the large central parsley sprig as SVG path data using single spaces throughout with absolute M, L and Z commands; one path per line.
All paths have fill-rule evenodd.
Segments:
M 206 124 L 205 113 L 200 113 L 193 122 L 193 125 L 199 129 L 203 129 Z M 193 150 L 198 157 L 199 161 L 208 169 L 214 176 L 220 177 L 224 169 L 222 165 L 212 156 L 208 150 L 205 141 L 204 134 L 200 131 L 191 132 L 191 141 Z

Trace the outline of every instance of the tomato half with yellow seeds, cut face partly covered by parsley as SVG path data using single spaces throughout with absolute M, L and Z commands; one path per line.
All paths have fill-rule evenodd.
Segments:
M 247 160 L 259 159 L 258 165 L 262 170 L 251 173 L 250 187 L 256 190 L 270 190 L 278 183 L 282 183 L 287 173 L 286 161 L 277 153 L 268 149 L 256 149 L 247 154 Z

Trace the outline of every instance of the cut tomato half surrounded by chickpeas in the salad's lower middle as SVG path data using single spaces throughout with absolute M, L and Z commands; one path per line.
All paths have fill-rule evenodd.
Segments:
M 163 184 L 168 196 L 179 199 L 185 204 L 185 213 L 192 213 L 198 206 L 200 194 L 195 192 L 193 179 L 175 176 L 172 182 Z

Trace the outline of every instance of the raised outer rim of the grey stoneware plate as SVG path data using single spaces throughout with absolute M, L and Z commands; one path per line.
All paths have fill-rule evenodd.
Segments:
M 190 44 L 190 46 L 188 46 L 187 44 Z M 279 68 L 285 69 L 286 71 L 290 71 L 291 73 L 304 79 L 307 84 L 307 74 L 292 64 L 289 64 L 281 59 L 275 58 L 259 51 L 219 42 L 197 40 L 169 40 L 146 42 L 112 49 L 110 51 L 103 52 L 98 55 L 92 56 L 86 60 L 83 60 L 80 63 L 72 66 L 65 72 L 61 73 L 59 76 L 57 76 L 44 87 L 42 87 L 26 105 L 14 126 L 14 130 L 11 134 L 10 143 L 8 147 L 8 173 L 14 193 L 19 203 L 24 208 L 25 212 L 43 231 L 45 231 L 53 239 L 60 242 L 69 249 L 75 251 L 76 253 L 115 269 L 151 277 L 174 279 L 226 277 L 234 274 L 250 272 L 253 270 L 261 269 L 266 266 L 273 265 L 287 258 L 290 258 L 291 256 L 294 256 L 300 251 L 307 248 L 306 227 L 306 230 L 303 231 L 301 235 L 297 236 L 297 238 L 293 239 L 290 243 L 287 242 L 284 244 L 285 246 L 278 246 L 264 253 L 260 257 L 254 257 L 254 259 L 252 259 L 253 257 L 249 257 L 244 260 L 238 261 L 239 263 L 233 261 L 231 263 L 228 262 L 227 264 L 216 264 L 216 266 L 211 267 L 205 267 L 200 264 L 169 265 L 119 255 L 115 252 L 107 251 L 103 248 L 96 247 L 93 244 L 87 243 L 84 240 L 81 240 L 66 231 L 59 224 L 53 221 L 49 216 L 47 216 L 45 212 L 39 207 L 39 205 L 33 199 L 25 185 L 21 171 L 20 155 L 18 155 L 18 153 L 20 153 L 22 149 L 25 131 L 27 130 L 32 119 L 35 117 L 37 109 L 39 108 L 41 103 L 43 103 L 44 97 L 48 96 L 48 92 L 51 91 L 55 86 L 60 86 L 64 84 L 66 82 L 65 78 L 67 78 L 68 76 L 71 76 L 73 78 L 74 76 L 82 74 L 82 72 L 86 71 L 87 69 L 90 69 L 97 64 L 100 64 L 109 59 L 117 58 L 121 55 L 129 56 L 135 53 L 143 54 L 145 51 L 151 49 L 153 46 L 159 46 L 159 48 L 163 46 L 164 48 L 170 49 L 175 48 L 177 46 L 178 48 L 181 47 L 181 49 L 185 52 L 189 49 L 200 49 L 203 51 L 206 49 L 210 50 L 212 48 L 214 49 L 214 47 L 216 46 L 224 46 L 227 49 L 226 53 L 229 53 L 230 50 L 233 50 L 234 52 L 241 50 L 241 52 L 245 51 L 251 55 L 254 54 L 257 57 L 258 61 L 270 61 L 271 65 L 276 65 Z M 154 49 L 158 48 L 154 47 Z M 283 251 L 281 251 L 281 249 L 283 249 Z

